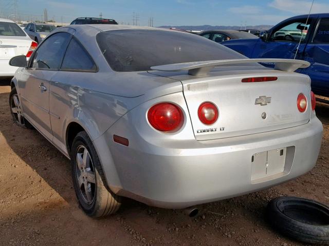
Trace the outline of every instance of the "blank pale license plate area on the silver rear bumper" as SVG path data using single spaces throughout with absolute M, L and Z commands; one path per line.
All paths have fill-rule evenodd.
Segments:
M 284 171 L 287 148 L 256 153 L 251 157 L 251 180 L 268 177 Z

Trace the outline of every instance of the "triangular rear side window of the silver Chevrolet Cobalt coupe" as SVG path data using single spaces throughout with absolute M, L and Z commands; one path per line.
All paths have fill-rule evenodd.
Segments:
M 96 65 L 76 38 L 72 38 L 65 53 L 62 69 L 96 70 Z

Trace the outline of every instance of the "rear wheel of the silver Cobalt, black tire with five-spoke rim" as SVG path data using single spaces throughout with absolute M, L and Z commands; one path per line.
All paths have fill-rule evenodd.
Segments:
M 88 216 L 103 217 L 119 209 L 120 197 L 109 190 L 95 147 L 84 131 L 73 140 L 71 167 L 79 204 Z

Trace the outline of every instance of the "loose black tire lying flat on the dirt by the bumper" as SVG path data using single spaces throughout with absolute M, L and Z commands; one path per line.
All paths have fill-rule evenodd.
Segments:
M 329 208 L 317 201 L 283 196 L 271 200 L 267 219 L 287 237 L 306 243 L 329 243 Z

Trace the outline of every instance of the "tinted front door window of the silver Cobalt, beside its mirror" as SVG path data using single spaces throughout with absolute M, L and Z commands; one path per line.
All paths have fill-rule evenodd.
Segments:
M 33 55 L 32 68 L 59 69 L 71 34 L 59 32 L 44 40 Z

